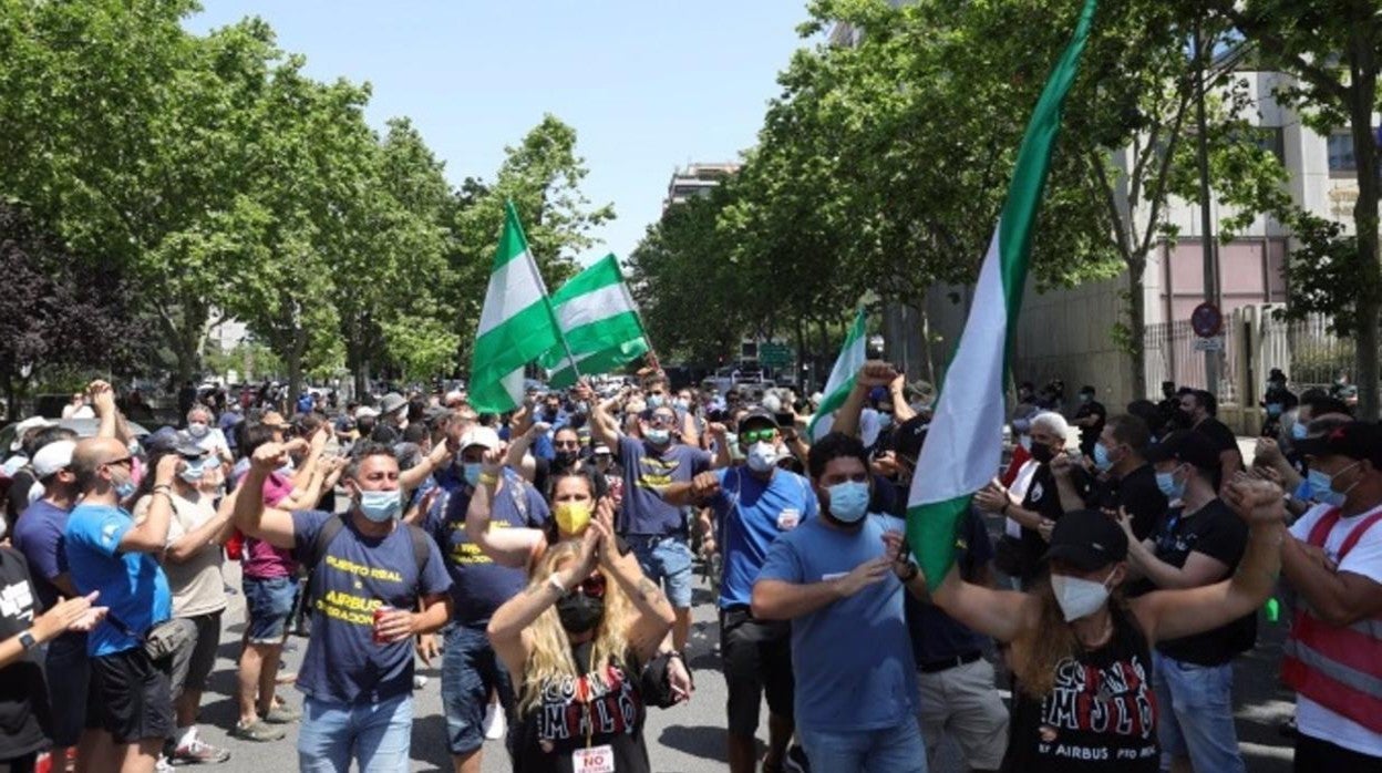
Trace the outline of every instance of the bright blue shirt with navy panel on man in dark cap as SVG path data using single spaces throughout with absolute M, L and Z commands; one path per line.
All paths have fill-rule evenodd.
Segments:
M 710 499 L 716 541 L 724 555 L 720 608 L 749 604 L 768 548 L 778 535 L 820 513 L 811 484 L 796 473 L 775 470 L 767 483 L 744 467 L 717 470 L 720 492 Z

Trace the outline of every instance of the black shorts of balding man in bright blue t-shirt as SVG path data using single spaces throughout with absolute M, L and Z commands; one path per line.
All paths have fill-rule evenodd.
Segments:
M 91 658 L 87 727 L 105 730 L 116 744 L 173 736 L 173 684 L 141 647 Z

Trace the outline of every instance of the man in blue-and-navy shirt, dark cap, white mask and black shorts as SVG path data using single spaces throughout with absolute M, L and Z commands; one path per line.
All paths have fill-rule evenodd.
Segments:
M 752 773 L 757 765 L 759 704 L 768 701 L 768 752 L 763 769 L 782 769 L 792 738 L 791 628 L 782 621 L 755 620 L 749 610 L 768 548 L 782 534 L 813 519 L 820 507 L 804 477 L 778 469 L 777 418 L 753 408 L 739 419 L 739 449 L 745 465 L 701 473 L 674 483 L 662 496 L 672 505 L 708 505 L 714 537 L 724 556 L 720 582 L 720 662 L 730 690 L 730 770 Z

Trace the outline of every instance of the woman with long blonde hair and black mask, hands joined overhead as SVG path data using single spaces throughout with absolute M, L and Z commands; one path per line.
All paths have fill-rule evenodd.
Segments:
M 619 555 L 608 502 L 598 510 L 579 541 L 546 549 L 527 590 L 489 621 L 518 696 L 520 773 L 651 770 L 643 725 L 674 657 L 658 655 L 672 606 L 632 555 Z

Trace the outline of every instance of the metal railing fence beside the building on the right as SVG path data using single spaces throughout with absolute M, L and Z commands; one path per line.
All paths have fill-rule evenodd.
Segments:
M 1280 318 L 1280 310 L 1281 304 L 1249 306 L 1224 318 L 1220 378 L 1209 387 L 1220 402 L 1256 405 L 1273 368 L 1287 373 L 1296 393 L 1328 389 L 1341 373 L 1356 383 L 1357 350 L 1352 339 L 1331 333 L 1321 314 L 1288 321 Z M 1206 387 L 1205 354 L 1195 351 L 1195 340 L 1189 321 L 1147 325 L 1143 343 L 1148 389 L 1155 390 L 1161 382 Z

